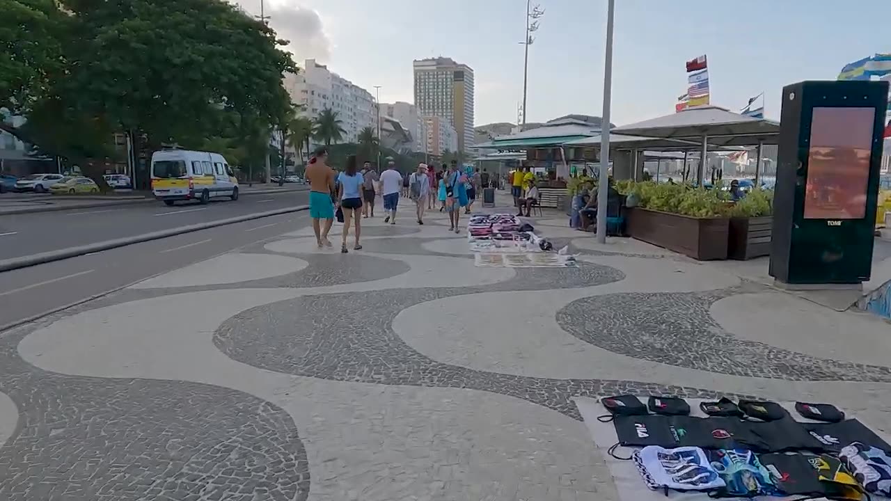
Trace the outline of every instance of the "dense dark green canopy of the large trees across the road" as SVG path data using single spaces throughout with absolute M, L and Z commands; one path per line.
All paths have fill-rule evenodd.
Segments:
M 28 119 L 0 127 L 46 152 L 101 155 L 128 132 L 150 149 L 262 158 L 291 106 L 286 42 L 223 0 L 0 0 L 0 12 L 0 107 Z

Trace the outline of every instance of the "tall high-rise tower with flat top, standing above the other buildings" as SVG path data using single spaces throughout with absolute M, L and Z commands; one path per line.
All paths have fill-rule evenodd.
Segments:
M 473 145 L 473 70 L 447 57 L 414 62 L 414 103 L 421 115 L 441 117 L 458 133 L 458 151 Z

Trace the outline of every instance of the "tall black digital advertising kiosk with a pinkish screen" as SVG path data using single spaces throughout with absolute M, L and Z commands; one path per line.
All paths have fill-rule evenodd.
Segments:
M 770 274 L 789 288 L 858 287 L 871 275 L 888 83 L 782 93 Z

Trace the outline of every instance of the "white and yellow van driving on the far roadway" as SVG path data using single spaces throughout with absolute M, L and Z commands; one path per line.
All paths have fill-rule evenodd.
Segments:
M 163 150 L 151 155 L 151 192 L 168 205 L 178 200 L 207 203 L 219 197 L 238 200 L 238 180 L 223 155 Z

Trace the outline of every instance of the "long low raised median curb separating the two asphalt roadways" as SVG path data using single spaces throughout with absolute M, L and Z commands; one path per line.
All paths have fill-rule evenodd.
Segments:
M 161 230 L 147 234 L 117 238 L 114 240 L 106 240 L 105 242 L 89 243 L 87 245 L 79 245 L 78 247 L 69 247 L 68 249 L 50 250 L 47 252 L 40 252 L 39 254 L 33 254 L 31 256 L 23 256 L 20 258 L 12 259 L 0 259 L 0 272 L 10 271 L 23 267 L 33 267 L 35 265 L 42 265 L 44 263 L 59 261 L 61 259 L 76 258 L 78 256 L 83 256 L 84 254 L 90 254 L 92 252 L 117 249 L 118 247 L 133 245 L 134 243 L 149 242 L 151 240 L 168 238 L 169 236 L 175 236 L 177 234 L 192 233 L 200 230 L 206 230 L 208 228 L 216 228 L 217 226 L 233 225 L 235 223 L 241 223 L 244 221 L 249 221 L 251 219 L 280 216 L 282 214 L 289 214 L 290 212 L 300 212 L 301 210 L 307 209 L 309 209 L 308 205 L 299 205 L 297 207 L 292 207 L 289 209 L 266 210 L 266 212 L 256 212 L 254 214 L 246 214 L 244 216 L 238 216 L 235 218 L 218 219 L 217 221 L 208 221 L 207 223 L 197 223 L 189 226 L 180 226 L 177 228 L 171 228 L 169 230 Z

